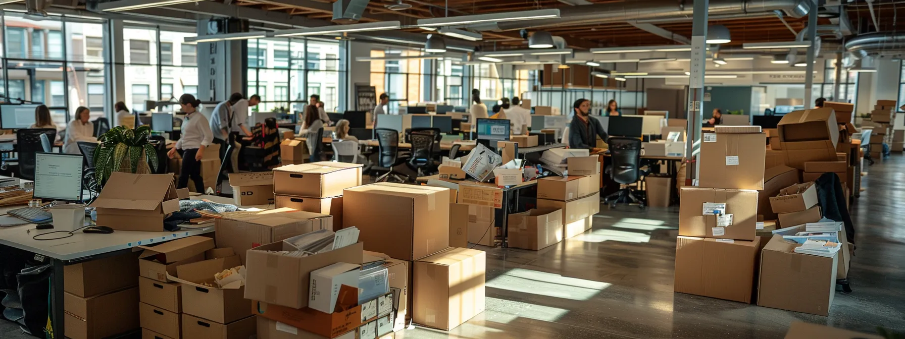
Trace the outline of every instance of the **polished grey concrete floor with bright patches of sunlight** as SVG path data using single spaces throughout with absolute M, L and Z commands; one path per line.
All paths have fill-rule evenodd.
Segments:
M 854 292 L 837 292 L 827 317 L 673 293 L 678 207 L 620 205 L 544 250 L 481 248 L 487 310 L 449 333 L 415 328 L 397 338 L 782 338 L 793 321 L 905 332 L 905 156 L 869 171 L 853 206 Z M 0 338 L 26 338 L 19 333 L 0 321 Z

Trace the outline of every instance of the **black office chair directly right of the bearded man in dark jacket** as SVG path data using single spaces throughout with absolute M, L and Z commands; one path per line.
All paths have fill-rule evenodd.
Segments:
M 617 202 L 637 202 L 643 208 L 645 202 L 643 195 L 636 196 L 639 192 L 633 192 L 628 184 L 634 184 L 641 178 L 641 139 L 633 137 L 611 137 L 609 150 L 613 165 L 606 171 L 617 184 L 625 184 L 625 188 L 607 195 L 604 202 L 615 208 Z

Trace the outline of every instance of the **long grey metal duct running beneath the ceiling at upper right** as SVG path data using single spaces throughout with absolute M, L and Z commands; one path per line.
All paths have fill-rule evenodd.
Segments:
M 810 0 L 710 0 L 710 14 L 758 14 L 783 11 L 800 18 L 811 9 Z M 469 28 L 484 31 L 512 31 L 548 26 L 605 24 L 641 20 L 687 18 L 691 20 L 691 0 L 645 0 L 559 8 L 560 17 L 525 22 L 481 24 Z

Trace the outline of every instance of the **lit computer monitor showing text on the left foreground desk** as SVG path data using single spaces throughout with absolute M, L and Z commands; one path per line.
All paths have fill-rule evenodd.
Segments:
M 34 155 L 34 198 L 81 202 L 82 155 Z

